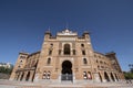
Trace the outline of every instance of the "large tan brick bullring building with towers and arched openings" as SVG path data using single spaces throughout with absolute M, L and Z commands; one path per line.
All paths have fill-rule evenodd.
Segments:
M 33 82 L 119 81 L 124 79 L 115 53 L 94 52 L 89 32 L 44 34 L 39 52 L 19 53 L 10 80 Z

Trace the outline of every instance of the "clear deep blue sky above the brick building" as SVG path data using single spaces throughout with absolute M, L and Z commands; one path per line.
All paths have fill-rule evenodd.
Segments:
M 0 0 L 0 62 L 41 50 L 44 32 L 89 31 L 93 50 L 133 64 L 133 0 Z

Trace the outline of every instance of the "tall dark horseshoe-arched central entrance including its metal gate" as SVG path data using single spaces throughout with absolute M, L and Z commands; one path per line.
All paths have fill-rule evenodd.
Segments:
M 72 80 L 72 63 L 70 61 L 64 61 L 62 63 L 61 80 Z

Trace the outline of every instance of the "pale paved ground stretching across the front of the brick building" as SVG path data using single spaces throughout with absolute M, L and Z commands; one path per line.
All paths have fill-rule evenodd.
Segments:
M 117 82 L 85 82 L 85 84 L 41 84 L 28 81 L 0 80 L 0 88 L 133 88 L 133 84 Z

